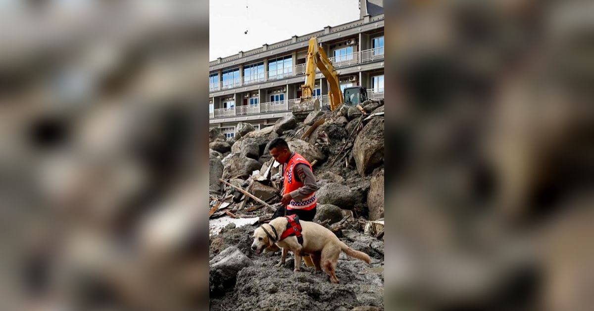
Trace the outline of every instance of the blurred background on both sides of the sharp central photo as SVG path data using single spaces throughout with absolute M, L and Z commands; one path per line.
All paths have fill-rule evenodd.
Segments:
M 0 1 L 0 309 L 207 308 L 206 6 Z M 591 309 L 594 2 L 385 7 L 387 309 Z

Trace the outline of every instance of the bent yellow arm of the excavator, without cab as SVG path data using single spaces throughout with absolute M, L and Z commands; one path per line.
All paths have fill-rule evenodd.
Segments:
M 307 52 L 307 62 L 305 65 L 305 84 L 301 86 L 302 97 L 301 101 L 311 101 L 312 94 L 315 85 L 315 69 L 320 68 L 320 71 L 324 74 L 330 86 L 329 98 L 330 98 L 330 110 L 336 109 L 340 104 L 343 103 L 342 93 L 340 92 L 340 83 L 338 79 L 338 73 L 332 66 L 330 59 L 326 56 L 326 52 L 320 49 L 318 45 L 318 39 L 312 37 L 309 39 L 309 50 Z

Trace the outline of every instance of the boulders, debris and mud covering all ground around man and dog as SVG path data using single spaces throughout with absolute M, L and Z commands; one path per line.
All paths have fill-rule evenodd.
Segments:
M 209 137 L 210 288 L 217 296 L 211 308 L 283 309 L 296 298 L 303 309 L 383 309 L 383 100 L 313 111 L 304 120 L 287 116 L 260 130 L 239 123 L 231 138 L 214 128 Z M 282 197 L 282 166 L 268 153 L 276 137 L 312 164 L 320 186 L 314 221 L 374 258 L 371 268 L 342 254 L 337 274 L 344 281 L 330 284 L 307 269 L 293 275 L 292 261 L 273 269 L 278 252 L 269 254 L 274 258 L 252 253 L 251 234 L 271 220 Z

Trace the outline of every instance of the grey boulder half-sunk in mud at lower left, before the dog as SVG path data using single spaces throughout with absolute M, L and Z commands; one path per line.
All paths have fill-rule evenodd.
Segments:
M 218 295 L 232 290 L 238 272 L 252 265 L 252 261 L 236 246 L 229 246 L 211 259 L 208 265 L 210 266 L 208 277 L 210 293 Z

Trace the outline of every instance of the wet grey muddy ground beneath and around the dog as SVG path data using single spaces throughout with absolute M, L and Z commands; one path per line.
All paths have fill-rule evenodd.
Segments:
M 368 307 L 384 309 L 384 241 L 355 230 L 344 230 L 340 240 L 365 252 L 371 265 L 340 254 L 336 275 L 340 284 L 330 283 L 328 275 L 302 267 L 293 272 L 293 256 L 277 268 L 280 251 L 256 255 L 250 249 L 251 235 L 257 226 L 242 226 L 213 236 L 210 258 L 229 246 L 237 246 L 252 264 L 239 271 L 235 287 L 226 293 L 212 294 L 211 310 L 352 310 Z

